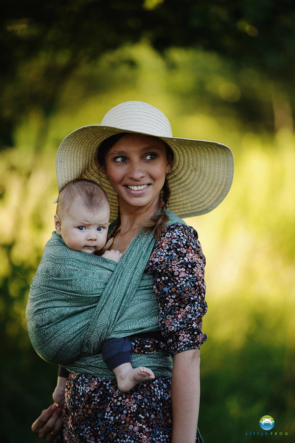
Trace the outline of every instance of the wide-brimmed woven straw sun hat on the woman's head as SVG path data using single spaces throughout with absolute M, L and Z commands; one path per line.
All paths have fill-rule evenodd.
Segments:
M 180 217 L 206 214 L 229 192 L 234 175 L 230 148 L 221 143 L 176 138 L 167 117 L 142 101 L 126 101 L 112 108 L 101 125 L 80 127 L 62 140 L 56 159 L 59 191 L 71 180 L 87 178 L 108 194 L 111 221 L 117 218 L 118 198 L 96 157 L 100 144 L 120 132 L 153 135 L 170 146 L 174 163 L 168 174 L 169 209 Z

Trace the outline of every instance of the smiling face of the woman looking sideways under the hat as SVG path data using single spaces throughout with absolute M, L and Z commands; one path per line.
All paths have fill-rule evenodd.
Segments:
M 120 205 L 161 207 L 160 191 L 172 160 L 157 137 L 126 134 L 105 156 L 105 173 L 118 193 Z

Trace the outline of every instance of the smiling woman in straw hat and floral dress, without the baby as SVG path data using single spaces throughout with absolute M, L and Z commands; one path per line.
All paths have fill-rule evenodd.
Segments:
M 197 422 L 200 346 L 207 339 L 201 330 L 207 310 L 205 257 L 196 231 L 167 208 L 181 217 L 211 211 L 230 190 L 233 166 L 229 148 L 173 138 L 165 115 L 143 102 L 121 103 L 101 125 L 77 129 L 62 141 L 57 155 L 59 190 L 77 177 L 97 181 L 108 193 L 111 218 L 116 219 L 105 249 L 115 248 L 126 257 L 134 248 L 144 257 L 148 253 L 143 271 L 152 277 L 159 324 L 148 333 L 131 334 L 133 354 L 151 362 L 168 351 L 173 358 L 171 378 L 168 364 L 164 368 L 157 362 L 156 379 L 127 393 L 118 391 L 114 379 L 101 377 L 99 369 L 92 376 L 79 367 L 71 371 L 65 441 L 201 441 Z M 149 252 L 141 243 L 147 238 L 152 239 Z M 156 329 L 162 338 L 150 332 Z M 52 406 L 32 430 L 53 441 L 61 423 L 60 408 Z

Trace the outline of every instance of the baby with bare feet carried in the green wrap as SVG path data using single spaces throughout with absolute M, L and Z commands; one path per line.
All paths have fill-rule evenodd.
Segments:
M 75 251 L 101 255 L 119 262 L 119 251 L 102 250 L 106 244 L 109 228 L 110 206 L 108 197 L 95 182 L 85 179 L 72 180 L 59 192 L 56 232 L 66 246 Z M 98 282 L 99 283 L 99 282 Z M 102 346 L 102 358 L 113 371 L 118 388 L 129 391 L 137 383 L 153 380 L 153 372 L 145 367 L 131 366 L 130 337 L 107 339 Z M 66 378 L 59 376 L 53 398 L 58 404 L 64 399 Z

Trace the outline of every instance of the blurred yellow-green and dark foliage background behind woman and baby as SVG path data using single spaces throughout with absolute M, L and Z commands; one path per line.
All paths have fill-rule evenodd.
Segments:
M 32 349 L 29 284 L 54 229 L 55 156 L 122 101 L 234 153 L 232 190 L 187 219 L 207 257 L 206 443 L 295 441 L 295 8 L 272 0 L 9 1 L 0 22 L 0 441 L 41 442 L 57 368 Z M 250 436 L 250 432 L 252 435 Z M 285 435 L 288 432 L 288 436 Z M 246 435 L 246 433 L 248 435 Z

